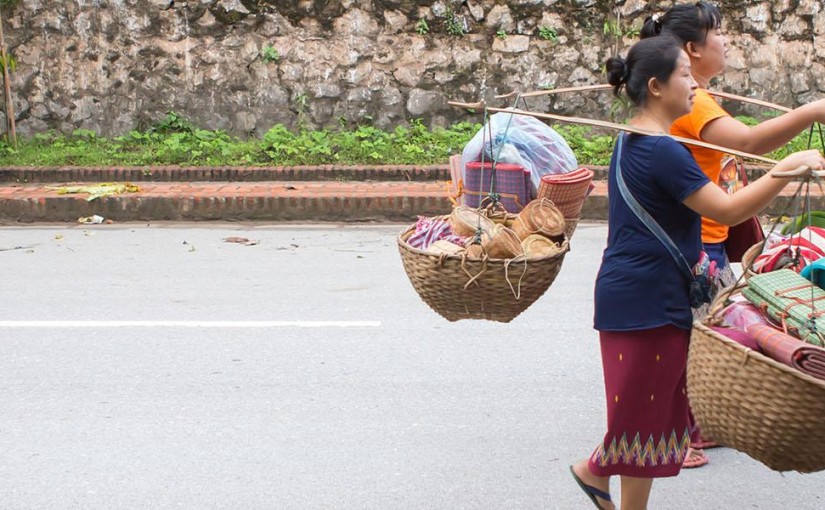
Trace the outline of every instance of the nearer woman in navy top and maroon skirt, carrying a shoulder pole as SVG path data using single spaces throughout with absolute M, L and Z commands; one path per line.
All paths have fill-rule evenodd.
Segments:
M 610 477 L 622 483 L 622 510 L 647 508 L 653 479 L 675 476 L 690 444 L 685 369 L 691 328 L 686 275 L 665 246 L 629 208 L 630 194 L 661 225 L 689 265 L 698 258 L 701 216 L 736 225 L 758 213 L 789 182 L 767 175 L 728 195 L 711 183 L 690 151 L 669 136 L 675 119 L 690 112 L 696 82 L 681 45 L 668 37 L 634 45 L 627 60 L 607 61 L 618 95 L 637 107 L 630 124 L 649 135 L 622 135 L 610 163 L 609 233 L 596 280 L 607 399 L 607 432 L 589 458 L 571 471 L 599 508 L 610 501 Z M 793 154 L 770 173 L 825 167 L 817 151 Z

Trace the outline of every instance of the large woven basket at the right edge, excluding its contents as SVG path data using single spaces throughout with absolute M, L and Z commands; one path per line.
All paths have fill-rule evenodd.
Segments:
M 695 322 L 687 384 L 703 435 L 776 471 L 825 469 L 825 381 Z

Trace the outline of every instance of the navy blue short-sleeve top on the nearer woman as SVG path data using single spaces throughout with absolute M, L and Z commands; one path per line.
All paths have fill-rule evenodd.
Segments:
M 668 136 L 622 135 L 622 176 L 688 264 L 702 249 L 701 217 L 682 202 L 710 181 L 690 151 Z M 608 177 L 607 248 L 596 279 L 595 328 L 630 331 L 672 324 L 690 329 L 686 275 L 622 198 L 616 149 Z

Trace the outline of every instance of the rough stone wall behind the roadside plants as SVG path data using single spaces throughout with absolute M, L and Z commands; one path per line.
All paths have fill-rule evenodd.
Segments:
M 167 111 L 234 133 L 276 123 L 388 128 L 478 120 L 447 100 L 601 83 L 602 63 L 671 2 L 640 0 L 19 0 L 3 11 L 18 130 L 103 135 Z M 723 2 L 716 88 L 784 105 L 825 92 L 815 0 Z M 606 34 L 608 32 L 608 34 Z M 617 37 L 615 34 L 621 34 Z M 819 54 L 815 49 L 819 49 Z M 607 93 L 533 109 L 606 118 Z

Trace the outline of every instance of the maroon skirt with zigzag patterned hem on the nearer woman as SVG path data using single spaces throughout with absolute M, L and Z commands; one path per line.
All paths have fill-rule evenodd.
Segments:
M 676 476 L 690 446 L 685 371 L 690 331 L 661 326 L 599 333 L 607 434 L 588 466 L 596 476 Z

